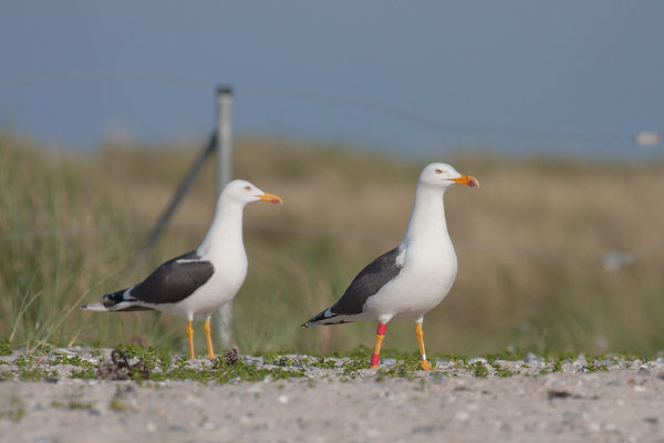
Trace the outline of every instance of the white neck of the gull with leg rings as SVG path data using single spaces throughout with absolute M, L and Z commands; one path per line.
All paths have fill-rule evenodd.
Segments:
M 445 190 L 422 184 L 417 186 L 402 247 L 438 247 L 440 243 L 452 243 L 445 220 L 444 195 Z

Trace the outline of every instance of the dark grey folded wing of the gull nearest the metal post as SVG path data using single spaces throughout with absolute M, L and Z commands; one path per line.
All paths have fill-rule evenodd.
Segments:
M 201 260 L 196 251 L 191 251 L 159 266 L 145 280 L 134 286 L 129 295 L 148 303 L 176 303 L 205 285 L 212 274 L 212 264 Z

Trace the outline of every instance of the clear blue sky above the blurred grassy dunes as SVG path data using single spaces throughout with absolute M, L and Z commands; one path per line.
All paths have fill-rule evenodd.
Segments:
M 661 1 L 23 1 L 0 39 L 0 125 L 80 150 L 201 137 L 221 82 L 236 134 L 402 153 L 664 130 Z

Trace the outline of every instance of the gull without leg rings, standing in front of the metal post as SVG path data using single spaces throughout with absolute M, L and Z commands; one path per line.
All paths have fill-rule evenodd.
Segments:
M 247 276 L 242 210 L 251 202 L 281 203 L 249 182 L 236 179 L 219 195 L 212 224 L 200 246 L 159 266 L 142 282 L 85 305 L 91 311 L 170 311 L 187 319 L 189 358 L 194 358 L 191 321 L 205 319 L 208 357 L 215 358 L 210 317 L 238 293 Z

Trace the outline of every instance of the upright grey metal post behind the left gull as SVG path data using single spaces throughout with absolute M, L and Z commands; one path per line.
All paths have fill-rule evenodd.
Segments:
M 232 179 L 231 96 L 232 90 L 229 86 L 217 89 L 217 197 Z M 232 346 L 232 302 L 219 309 L 217 334 L 225 348 Z

